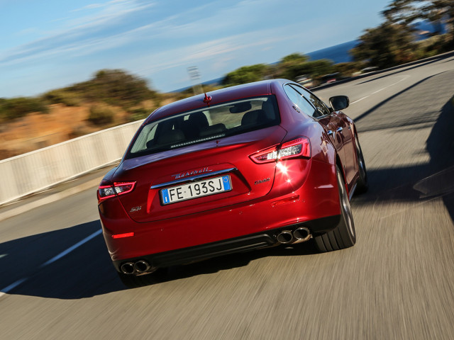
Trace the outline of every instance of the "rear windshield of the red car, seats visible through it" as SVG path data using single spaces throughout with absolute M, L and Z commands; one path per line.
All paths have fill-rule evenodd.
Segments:
M 126 158 L 186 147 L 280 123 L 275 96 L 243 98 L 144 125 Z

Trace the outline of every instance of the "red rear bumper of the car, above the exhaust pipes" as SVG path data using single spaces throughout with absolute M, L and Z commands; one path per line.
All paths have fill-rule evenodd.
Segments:
M 333 185 L 336 174 L 331 164 L 312 162 L 311 168 L 298 188 L 289 182 L 273 186 L 262 198 L 154 222 L 135 222 L 118 198 L 106 200 L 99 213 L 111 259 L 116 268 L 139 258 L 166 266 L 270 246 L 279 230 L 289 226 L 305 225 L 311 234 L 327 232 L 336 227 L 341 211 Z M 127 233 L 133 236 L 113 237 Z

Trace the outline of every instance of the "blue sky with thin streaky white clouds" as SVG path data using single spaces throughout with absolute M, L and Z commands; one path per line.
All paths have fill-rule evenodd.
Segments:
M 390 0 L 0 0 L 0 97 L 124 69 L 166 92 L 358 38 Z

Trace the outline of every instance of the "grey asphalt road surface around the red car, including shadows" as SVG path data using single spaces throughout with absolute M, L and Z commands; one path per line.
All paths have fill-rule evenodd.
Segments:
M 360 133 L 355 246 L 223 256 L 128 290 L 83 191 L 0 222 L 0 339 L 454 339 L 454 57 L 317 93 L 350 96 Z

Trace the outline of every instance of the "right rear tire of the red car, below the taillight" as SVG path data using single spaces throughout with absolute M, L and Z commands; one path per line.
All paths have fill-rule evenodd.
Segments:
M 339 202 L 341 203 L 341 220 L 330 232 L 314 237 L 317 248 L 323 253 L 345 249 L 353 246 L 356 242 L 355 223 L 353 222 L 350 200 L 348 199 L 343 176 L 338 166 L 336 166 L 336 178 L 338 181 Z

